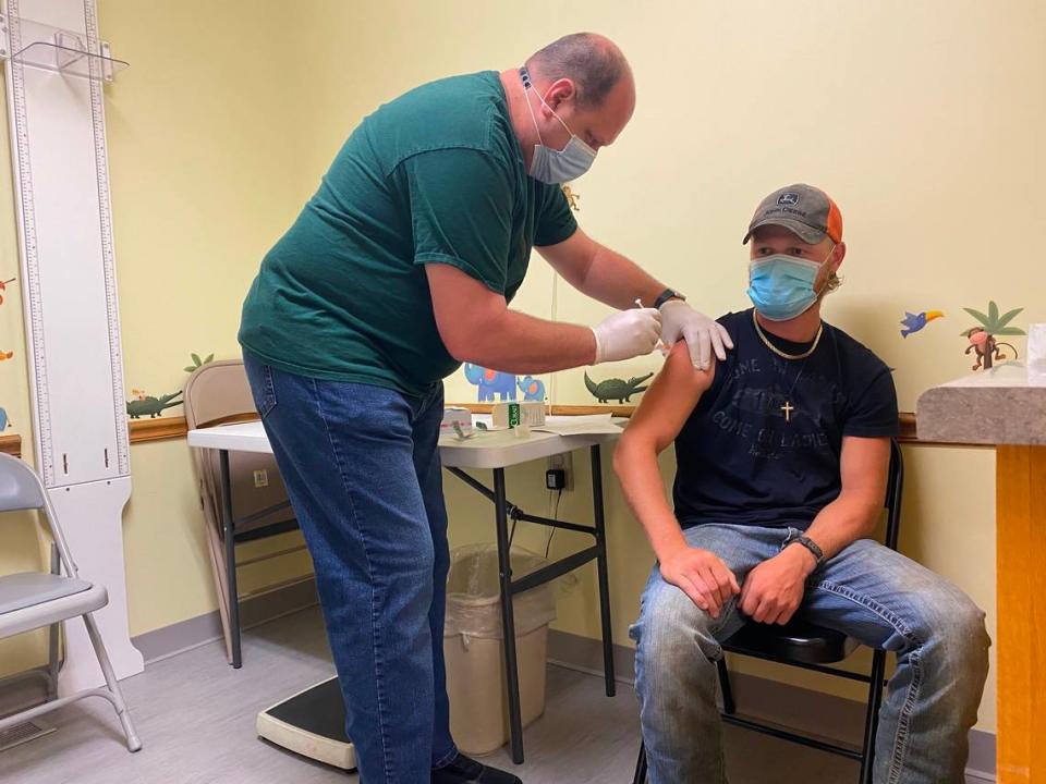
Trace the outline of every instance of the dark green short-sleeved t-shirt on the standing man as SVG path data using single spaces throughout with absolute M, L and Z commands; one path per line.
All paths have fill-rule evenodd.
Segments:
M 262 261 L 240 343 L 288 372 L 423 395 L 458 368 L 424 266 L 511 301 L 531 248 L 575 229 L 559 186 L 527 176 L 497 72 L 423 85 L 345 142 Z

